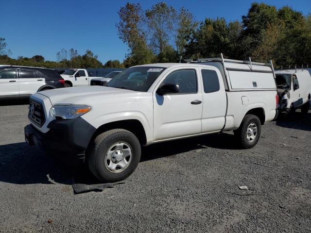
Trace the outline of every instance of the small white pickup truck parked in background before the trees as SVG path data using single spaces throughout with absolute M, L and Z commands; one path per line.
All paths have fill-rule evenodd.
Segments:
M 65 87 L 89 86 L 90 80 L 102 77 L 90 77 L 86 69 L 68 69 L 61 74 L 65 80 Z

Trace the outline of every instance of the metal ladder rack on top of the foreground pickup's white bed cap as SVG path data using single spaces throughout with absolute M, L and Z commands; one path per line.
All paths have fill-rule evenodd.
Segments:
M 193 59 L 184 59 L 185 62 L 187 63 L 196 63 L 196 62 L 222 62 L 225 70 L 225 76 L 227 77 L 227 70 L 225 67 L 225 63 L 238 63 L 238 64 L 248 64 L 250 65 L 251 70 L 253 70 L 252 65 L 256 66 L 266 66 L 266 67 L 271 67 L 273 76 L 276 78 L 274 67 L 272 60 L 269 61 L 269 63 L 261 63 L 261 62 L 252 62 L 252 59 L 249 57 L 248 61 L 242 61 L 242 60 L 233 60 L 233 59 L 225 59 L 223 56 L 223 53 L 220 54 L 220 57 L 215 57 L 215 58 L 198 58 L 196 60 Z

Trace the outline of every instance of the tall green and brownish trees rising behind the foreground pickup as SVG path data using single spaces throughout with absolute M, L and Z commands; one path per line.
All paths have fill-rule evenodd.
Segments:
M 186 58 L 218 57 L 259 62 L 276 67 L 311 64 L 311 15 L 289 6 L 254 2 L 241 21 L 208 18 L 196 21 L 185 8 L 164 2 L 143 10 L 139 3 L 121 7 L 116 24 L 129 47 L 124 65 L 179 62 Z

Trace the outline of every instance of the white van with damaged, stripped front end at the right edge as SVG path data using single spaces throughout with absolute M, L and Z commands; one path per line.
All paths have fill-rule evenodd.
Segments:
M 306 69 L 276 71 L 278 110 L 292 114 L 300 108 L 306 114 L 310 108 L 311 75 Z

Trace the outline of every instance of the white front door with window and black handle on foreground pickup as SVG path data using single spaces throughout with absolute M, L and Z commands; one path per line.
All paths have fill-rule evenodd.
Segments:
M 198 68 L 171 70 L 154 90 L 154 141 L 201 133 L 202 92 Z M 164 83 L 178 84 L 180 92 L 160 96 Z

